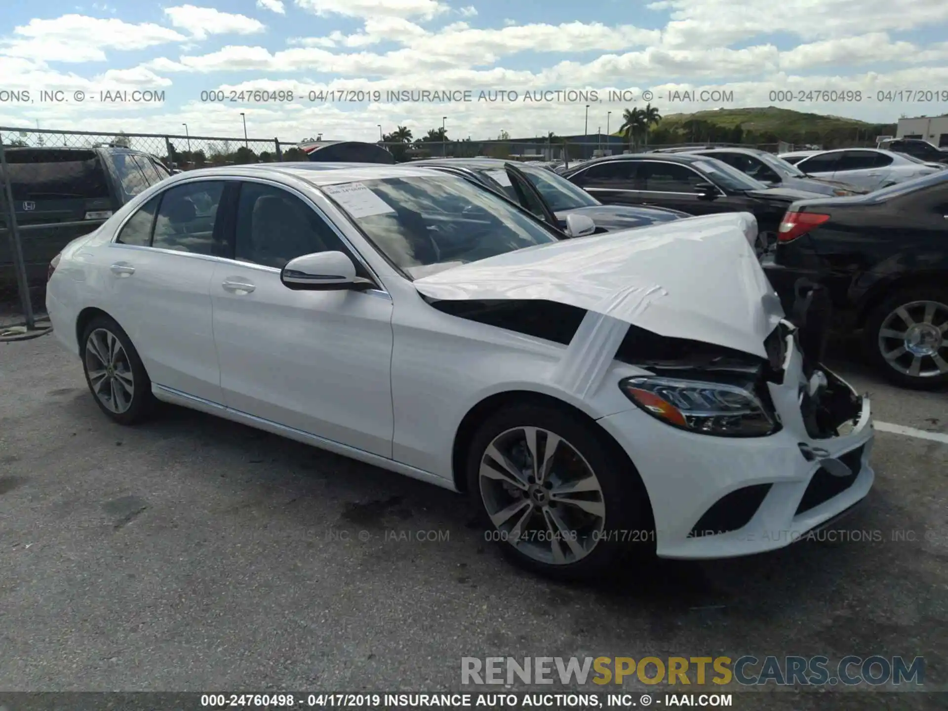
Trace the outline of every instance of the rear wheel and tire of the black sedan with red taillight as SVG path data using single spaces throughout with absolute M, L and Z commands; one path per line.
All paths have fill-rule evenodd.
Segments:
M 948 289 L 918 286 L 884 299 L 866 319 L 866 349 L 896 385 L 917 390 L 948 385 Z

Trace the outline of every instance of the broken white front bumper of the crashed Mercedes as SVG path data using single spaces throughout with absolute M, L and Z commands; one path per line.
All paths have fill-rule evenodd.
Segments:
M 787 338 L 783 382 L 768 383 L 782 424 L 773 435 L 697 434 L 638 409 L 599 420 L 629 453 L 646 485 L 659 556 L 718 558 L 775 550 L 866 497 L 875 477 L 868 464 L 874 436 L 869 401 L 862 398 L 858 421 L 847 433 L 811 437 L 801 411 L 800 389 L 807 384 L 803 356 L 793 335 Z M 847 471 L 841 463 L 848 477 L 839 476 Z M 739 498 L 736 492 L 747 487 L 766 493 L 752 501 L 746 523 L 723 533 L 696 533 L 716 503 L 730 494 Z

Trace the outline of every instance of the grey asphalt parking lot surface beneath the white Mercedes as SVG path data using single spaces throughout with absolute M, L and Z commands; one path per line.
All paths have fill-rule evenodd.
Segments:
M 837 366 L 878 421 L 948 432 L 948 394 Z M 921 655 L 925 687 L 948 689 L 937 441 L 878 432 L 846 540 L 576 586 L 512 568 L 433 486 L 190 410 L 114 425 L 52 336 L 0 343 L 0 387 L 2 690 L 445 691 L 463 656 L 747 653 Z M 734 707 L 944 703 L 744 691 Z

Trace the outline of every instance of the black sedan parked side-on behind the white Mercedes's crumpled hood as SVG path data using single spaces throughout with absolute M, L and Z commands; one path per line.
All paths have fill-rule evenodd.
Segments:
M 770 188 L 715 158 L 691 154 L 613 155 L 563 173 L 611 205 L 682 210 L 691 215 L 752 212 L 761 238 L 773 241 L 794 200 L 815 192 Z

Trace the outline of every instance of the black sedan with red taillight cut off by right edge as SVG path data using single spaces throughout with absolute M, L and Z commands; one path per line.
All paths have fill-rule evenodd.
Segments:
M 861 330 L 889 379 L 948 385 L 948 173 L 793 203 L 764 269 L 785 307 L 799 280 L 822 284 L 836 328 Z

